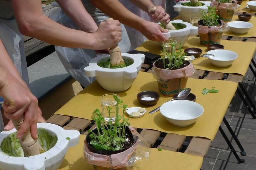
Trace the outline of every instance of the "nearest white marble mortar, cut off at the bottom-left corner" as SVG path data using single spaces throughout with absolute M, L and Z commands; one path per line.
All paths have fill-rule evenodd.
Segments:
M 57 143 L 49 151 L 30 157 L 13 157 L 5 154 L 0 148 L 0 169 L 1 170 L 57 170 L 61 165 L 69 147 L 75 146 L 79 142 L 79 131 L 65 130 L 60 126 L 50 123 L 38 123 L 38 128 L 57 136 Z M 16 129 L 2 131 L 0 133 L 0 143 Z M 69 137 L 70 140 L 66 138 Z

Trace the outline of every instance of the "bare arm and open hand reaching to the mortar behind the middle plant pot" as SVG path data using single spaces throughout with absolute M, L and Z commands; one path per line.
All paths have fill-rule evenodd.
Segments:
M 167 40 L 162 34 L 163 32 L 168 32 L 167 30 L 161 28 L 156 23 L 146 21 L 133 14 L 117 0 L 90 0 L 90 2 L 111 18 L 137 29 L 150 40 Z

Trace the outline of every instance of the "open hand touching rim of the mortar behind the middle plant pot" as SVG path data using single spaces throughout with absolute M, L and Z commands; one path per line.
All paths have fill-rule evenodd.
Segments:
M 153 41 L 164 41 L 168 40 L 162 33 L 168 32 L 169 30 L 163 29 L 160 25 L 146 21 L 142 30 L 140 31 L 149 40 Z

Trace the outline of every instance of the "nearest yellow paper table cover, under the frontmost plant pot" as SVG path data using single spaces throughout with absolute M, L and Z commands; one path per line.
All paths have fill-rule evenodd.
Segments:
M 83 159 L 83 141 L 85 135 L 80 135 L 78 145 L 70 147 L 59 167 L 59 170 L 93 170 L 93 165 Z M 202 166 L 201 156 L 150 148 L 150 158 L 145 162 L 139 163 L 140 169 L 170 169 L 170 170 L 199 170 Z M 135 170 L 136 168 L 134 168 Z

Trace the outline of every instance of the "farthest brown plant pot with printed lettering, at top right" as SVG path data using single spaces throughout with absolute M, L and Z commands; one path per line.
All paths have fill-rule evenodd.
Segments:
M 219 19 L 224 22 L 230 22 L 233 18 L 234 10 L 238 8 L 237 1 L 232 1 L 232 3 L 221 3 L 213 0 L 211 7 L 216 6 L 216 14 L 219 15 Z

